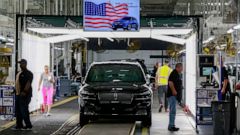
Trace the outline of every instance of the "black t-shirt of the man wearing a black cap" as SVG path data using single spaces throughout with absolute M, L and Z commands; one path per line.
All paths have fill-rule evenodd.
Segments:
M 22 71 L 22 73 L 19 76 L 20 93 L 24 90 L 28 81 L 32 84 L 33 74 L 29 70 L 24 70 L 24 71 Z M 27 94 L 27 96 L 32 96 L 32 86 L 30 86 L 30 88 L 26 94 Z

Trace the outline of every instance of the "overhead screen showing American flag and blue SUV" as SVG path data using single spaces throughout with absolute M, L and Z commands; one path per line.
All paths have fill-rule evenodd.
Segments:
M 84 0 L 85 31 L 138 31 L 139 0 Z

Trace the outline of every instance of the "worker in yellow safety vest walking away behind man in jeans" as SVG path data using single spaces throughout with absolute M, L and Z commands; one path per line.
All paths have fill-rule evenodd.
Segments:
M 169 67 L 169 61 L 165 60 L 164 65 L 158 67 L 155 86 L 158 90 L 158 100 L 160 104 L 159 112 L 162 112 L 163 103 L 165 111 L 168 111 L 168 101 L 167 101 L 167 88 L 168 88 L 168 77 L 171 74 L 172 69 Z

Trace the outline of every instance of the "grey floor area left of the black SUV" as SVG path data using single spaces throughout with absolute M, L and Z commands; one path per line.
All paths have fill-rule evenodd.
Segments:
M 52 109 L 52 116 L 46 117 L 42 114 L 32 116 L 31 121 L 33 124 L 32 131 L 12 131 L 6 129 L 0 132 L 1 135 L 50 135 L 56 131 L 60 126 L 71 118 L 73 115 L 78 114 L 77 100 L 71 101 L 64 105 Z

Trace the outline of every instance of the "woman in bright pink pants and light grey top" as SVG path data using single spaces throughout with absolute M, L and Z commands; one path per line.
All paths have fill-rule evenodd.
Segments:
M 50 110 L 53 103 L 53 84 L 54 76 L 49 72 L 49 67 L 44 66 L 44 72 L 41 74 L 41 78 L 38 85 L 38 91 L 42 85 L 42 95 L 43 95 L 43 109 L 45 110 L 46 116 L 50 116 Z

